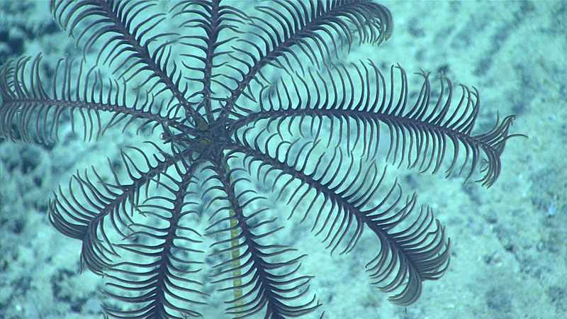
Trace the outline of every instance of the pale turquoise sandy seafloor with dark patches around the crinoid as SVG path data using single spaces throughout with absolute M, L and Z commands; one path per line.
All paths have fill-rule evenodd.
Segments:
M 383 71 L 395 63 L 408 73 L 442 70 L 481 91 L 476 132 L 490 128 L 498 111 L 516 114 L 512 133 L 529 139 L 508 142 L 500 179 L 488 190 L 391 168 L 451 237 L 449 270 L 425 282 L 417 303 L 393 306 L 369 284 L 364 241 L 351 254 L 330 256 L 305 231 L 294 236 L 309 254 L 303 269 L 315 269 L 310 296 L 324 303 L 325 318 L 567 318 L 567 1 L 386 5 L 392 38 L 355 49 L 352 58 L 369 57 Z M 67 54 L 80 57 L 50 18 L 48 1 L 0 1 L 0 62 L 38 52 L 51 66 Z M 419 87 L 410 76 L 410 89 Z M 47 202 L 77 169 L 106 169 L 106 157 L 140 140 L 118 129 L 100 142 L 64 138 L 49 147 L 0 139 L 0 318 L 102 318 L 103 281 L 78 274 L 80 242 L 52 228 Z M 203 310 L 205 318 L 213 313 L 222 310 Z

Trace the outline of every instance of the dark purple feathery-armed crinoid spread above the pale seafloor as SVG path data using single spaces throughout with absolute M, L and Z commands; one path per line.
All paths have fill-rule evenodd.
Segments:
M 47 81 L 40 56 L 0 69 L 5 138 L 53 143 L 69 125 L 94 142 L 108 130 L 145 140 L 78 171 L 49 204 L 52 225 L 82 241 L 82 267 L 105 277 L 104 313 L 186 318 L 220 299 L 237 317 L 318 317 L 317 274 L 300 267 L 309 234 L 282 231 L 300 225 L 330 252 L 373 251 L 369 282 L 397 305 L 417 301 L 447 270 L 449 239 L 380 164 L 490 186 L 513 116 L 473 134 L 476 89 L 455 94 L 442 76 L 432 92 L 421 72 L 410 101 L 401 67 L 344 62 L 391 36 L 373 1 L 167 5 L 54 0 L 84 55 Z

